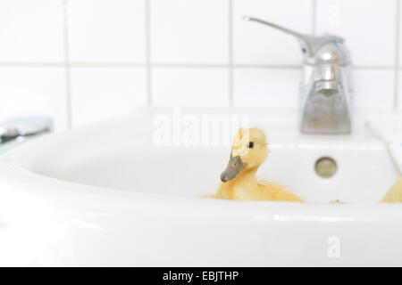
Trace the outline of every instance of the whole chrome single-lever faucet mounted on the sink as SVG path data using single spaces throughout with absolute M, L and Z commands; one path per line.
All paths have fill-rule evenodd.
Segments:
M 349 134 L 351 131 L 352 77 L 344 39 L 314 37 L 252 17 L 245 20 L 297 37 L 304 54 L 300 84 L 300 131 L 304 134 Z

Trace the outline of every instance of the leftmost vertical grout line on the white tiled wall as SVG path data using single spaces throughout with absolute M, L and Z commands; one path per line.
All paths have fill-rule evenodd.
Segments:
M 66 95 L 66 112 L 67 112 L 67 128 L 72 127 L 72 110 L 71 110 L 71 66 L 70 66 L 70 46 L 69 46 L 69 18 L 68 18 L 69 0 L 63 0 L 64 12 L 64 76 L 65 76 L 65 95 Z

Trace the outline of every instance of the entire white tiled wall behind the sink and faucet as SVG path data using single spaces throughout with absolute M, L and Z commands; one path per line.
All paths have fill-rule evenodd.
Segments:
M 356 109 L 402 109 L 400 1 L 2 1 L 0 119 L 46 113 L 63 129 L 145 104 L 296 108 L 297 40 L 243 15 L 345 37 Z

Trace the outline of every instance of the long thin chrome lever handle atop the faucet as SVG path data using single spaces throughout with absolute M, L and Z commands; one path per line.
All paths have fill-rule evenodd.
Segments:
M 339 44 L 344 43 L 344 39 L 342 37 L 338 37 L 338 36 L 323 35 L 321 37 L 315 37 L 315 36 L 311 36 L 311 35 L 305 35 L 305 34 L 298 33 L 295 30 L 281 27 L 277 24 L 274 24 L 274 23 L 266 21 L 266 20 L 261 20 L 261 19 L 257 19 L 254 17 L 248 17 L 248 16 L 243 17 L 243 19 L 248 20 L 248 21 L 258 22 L 263 25 L 269 26 L 271 28 L 279 29 L 282 32 L 289 34 L 293 37 L 297 37 L 297 39 L 300 42 L 302 52 L 306 53 L 306 55 L 308 55 L 310 57 L 313 57 L 314 54 L 322 47 L 322 45 L 326 45 L 331 42 L 336 42 Z

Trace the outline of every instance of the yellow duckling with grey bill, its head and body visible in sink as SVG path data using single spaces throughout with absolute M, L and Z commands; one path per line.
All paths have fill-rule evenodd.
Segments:
M 268 156 L 263 131 L 257 128 L 239 129 L 235 135 L 230 160 L 222 172 L 216 198 L 243 200 L 301 201 L 283 187 L 257 181 L 255 173 Z

